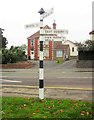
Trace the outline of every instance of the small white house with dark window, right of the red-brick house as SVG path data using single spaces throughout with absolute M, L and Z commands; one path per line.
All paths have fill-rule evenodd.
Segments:
M 77 50 L 77 46 L 75 45 L 75 43 L 73 43 L 70 40 L 65 40 L 62 43 L 63 45 L 69 45 L 70 47 L 70 57 L 76 57 L 78 56 L 78 50 Z

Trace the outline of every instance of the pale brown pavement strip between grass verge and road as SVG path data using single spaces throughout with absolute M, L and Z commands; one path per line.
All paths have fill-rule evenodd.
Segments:
M 6 87 L 5 87 L 6 86 Z M 39 97 L 38 86 L 3 85 L 0 92 L 8 97 Z M 93 101 L 94 90 L 64 87 L 45 87 L 45 98 Z

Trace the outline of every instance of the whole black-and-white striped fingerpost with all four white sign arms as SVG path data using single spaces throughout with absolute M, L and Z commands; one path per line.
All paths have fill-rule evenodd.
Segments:
M 54 36 L 55 34 L 68 34 L 67 30 L 62 29 L 43 29 L 43 19 L 48 17 L 54 12 L 54 9 L 51 8 L 47 12 L 43 8 L 39 10 L 40 13 L 40 22 L 27 24 L 25 28 L 36 28 L 40 27 L 40 38 L 39 38 L 39 99 L 44 99 L 44 68 L 43 68 L 43 42 L 48 40 L 53 41 L 62 41 L 62 37 Z M 49 36 L 48 36 L 49 35 Z M 50 39 L 51 38 L 51 39 Z

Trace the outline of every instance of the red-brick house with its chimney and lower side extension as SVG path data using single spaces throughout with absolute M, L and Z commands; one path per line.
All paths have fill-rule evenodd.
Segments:
M 48 25 L 46 25 L 43 29 L 51 29 Z M 56 23 L 54 21 L 53 23 L 53 29 L 56 29 Z M 49 35 L 48 35 L 49 36 Z M 55 34 L 55 36 L 57 36 Z M 39 37 L 40 37 L 40 31 L 37 31 L 33 35 L 27 38 L 28 40 L 28 49 L 27 49 L 27 57 L 28 59 L 39 59 Z M 61 47 L 58 48 L 57 45 L 60 45 Z M 44 59 L 47 60 L 55 60 L 58 57 L 61 57 L 61 59 L 64 58 L 65 49 L 69 49 L 68 47 L 65 47 L 67 45 L 62 46 L 62 41 L 52 41 L 49 39 L 45 39 L 44 45 L 43 45 L 43 53 L 44 53 Z M 56 50 L 57 49 L 57 50 Z M 59 53 L 62 51 L 61 53 Z M 62 55 L 59 55 L 62 54 Z M 56 56 L 55 56 L 56 55 Z M 69 55 L 69 54 L 68 54 Z

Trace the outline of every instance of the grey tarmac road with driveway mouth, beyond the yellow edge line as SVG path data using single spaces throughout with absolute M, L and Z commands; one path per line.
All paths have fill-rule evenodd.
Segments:
M 38 86 L 38 62 L 31 69 L 3 69 L 2 83 Z M 75 60 L 63 64 L 44 62 L 44 84 L 49 87 L 92 88 L 92 69 L 75 67 Z

